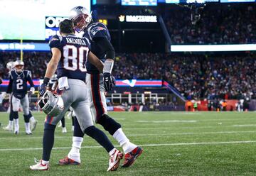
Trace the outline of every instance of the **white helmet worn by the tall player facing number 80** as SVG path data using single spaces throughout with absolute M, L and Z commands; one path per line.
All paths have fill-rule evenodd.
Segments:
M 75 31 L 80 33 L 92 21 L 92 14 L 83 6 L 75 6 L 70 10 L 68 18 L 73 21 Z

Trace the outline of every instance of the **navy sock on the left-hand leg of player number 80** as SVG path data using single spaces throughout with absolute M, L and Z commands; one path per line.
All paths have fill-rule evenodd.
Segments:
M 45 128 L 43 131 L 43 160 L 50 160 L 50 152 L 53 148 L 54 143 L 54 131 L 55 127 L 48 123 L 45 123 Z

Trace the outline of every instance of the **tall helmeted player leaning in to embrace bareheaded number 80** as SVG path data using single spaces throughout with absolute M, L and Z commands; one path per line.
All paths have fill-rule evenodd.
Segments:
M 75 23 L 75 31 L 84 32 L 84 37 L 89 39 L 92 53 L 104 62 L 103 73 L 87 62 L 87 89 L 90 90 L 92 99 L 90 109 L 96 123 L 114 137 L 124 150 L 124 163 L 122 167 L 129 167 L 134 160 L 142 153 L 142 148 L 131 143 L 122 131 L 121 125 L 107 115 L 107 104 L 105 92 L 110 91 L 115 84 L 111 72 L 114 65 L 114 48 L 110 43 L 110 33 L 104 23 L 94 23 L 89 11 L 85 7 L 77 6 L 70 11 L 69 17 Z M 83 133 L 75 121 L 73 134 L 73 145 L 68 156 L 59 160 L 60 165 L 73 165 L 80 163 L 80 148 L 83 140 Z

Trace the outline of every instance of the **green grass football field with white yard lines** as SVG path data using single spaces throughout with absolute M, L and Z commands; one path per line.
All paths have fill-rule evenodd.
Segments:
M 256 114 L 254 112 L 123 112 L 110 113 L 144 153 L 132 167 L 106 172 L 108 154 L 85 137 L 79 166 L 59 166 L 68 154 L 72 133 L 55 130 L 50 170 L 32 171 L 33 158 L 41 159 L 43 113 L 33 113 L 38 126 L 32 136 L 0 130 L 0 175 L 256 175 Z M 0 114 L 2 126 L 8 114 Z M 3 124 L 4 123 L 4 124 Z M 109 135 L 108 135 L 109 136 Z M 113 141 L 112 136 L 110 139 Z M 119 148 L 118 143 L 113 141 Z M 121 148 L 119 148 L 121 149 Z M 123 160 L 122 160 L 123 162 Z

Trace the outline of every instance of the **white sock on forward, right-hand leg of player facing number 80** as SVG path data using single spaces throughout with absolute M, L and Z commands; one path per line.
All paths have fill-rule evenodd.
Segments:
M 125 136 L 124 132 L 122 131 L 122 128 L 119 128 L 114 133 L 113 137 L 122 146 L 124 153 L 129 153 L 132 150 L 134 150 L 134 148 L 137 148 L 137 145 L 129 142 L 129 139 L 127 138 L 127 136 Z

